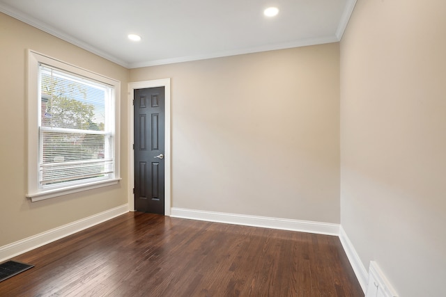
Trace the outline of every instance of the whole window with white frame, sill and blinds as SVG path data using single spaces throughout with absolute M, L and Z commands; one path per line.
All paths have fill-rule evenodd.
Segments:
M 32 201 L 116 184 L 118 81 L 29 51 Z

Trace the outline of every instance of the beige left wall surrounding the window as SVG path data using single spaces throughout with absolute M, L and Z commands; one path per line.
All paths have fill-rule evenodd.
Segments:
M 116 186 L 30 202 L 26 192 L 26 49 L 121 81 L 121 138 L 127 143 L 128 70 L 0 13 L 0 246 L 127 203 L 127 150 Z

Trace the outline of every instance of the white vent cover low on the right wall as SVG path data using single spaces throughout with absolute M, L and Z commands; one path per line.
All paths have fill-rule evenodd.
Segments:
M 374 261 L 370 261 L 369 282 L 365 297 L 398 297 L 383 271 Z

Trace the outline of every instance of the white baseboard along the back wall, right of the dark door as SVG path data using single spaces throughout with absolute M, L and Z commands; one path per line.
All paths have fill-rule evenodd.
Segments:
M 288 218 L 270 218 L 265 216 L 248 216 L 244 214 L 227 214 L 215 211 L 201 211 L 194 209 L 171 208 L 171 215 L 175 218 L 190 218 L 217 223 L 264 227 L 279 230 L 325 234 L 339 236 L 339 224 L 320 223 L 309 220 L 292 220 Z

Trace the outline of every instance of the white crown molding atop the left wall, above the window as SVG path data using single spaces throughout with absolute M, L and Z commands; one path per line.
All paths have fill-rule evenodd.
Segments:
M 26 15 L 25 13 L 22 13 L 14 8 L 11 8 L 5 3 L 0 2 L 0 12 L 5 13 L 6 15 L 9 15 L 10 17 L 14 17 L 15 19 L 18 19 L 26 24 L 29 24 L 30 26 L 33 26 L 37 29 L 40 29 L 46 33 L 49 33 L 53 36 L 56 36 L 56 38 L 60 38 L 61 40 L 65 40 L 66 42 L 70 42 L 72 45 L 76 45 L 77 47 L 80 47 L 81 49 L 85 49 L 86 51 L 90 51 L 91 53 L 98 55 L 102 58 L 107 59 L 108 61 L 112 61 L 113 63 L 116 63 L 118 65 L 121 65 L 123 67 L 129 68 L 129 64 L 125 61 L 122 61 L 119 58 L 116 58 L 115 56 L 109 55 L 105 53 L 104 51 L 101 51 L 100 49 L 97 49 L 96 47 L 93 47 L 85 42 L 82 42 L 81 40 L 78 40 L 77 38 L 73 38 L 72 36 L 62 33 L 58 29 L 49 26 L 48 24 L 45 24 L 43 22 L 40 22 L 38 19 L 35 19 L 34 17 L 31 17 L 29 15 Z

